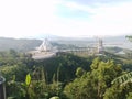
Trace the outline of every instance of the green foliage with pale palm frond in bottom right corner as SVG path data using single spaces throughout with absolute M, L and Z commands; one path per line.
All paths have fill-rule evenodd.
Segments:
M 123 74 L 112 81 L 111 88 L 107 89 L 105 99 L 131 99 L 132 73 Z

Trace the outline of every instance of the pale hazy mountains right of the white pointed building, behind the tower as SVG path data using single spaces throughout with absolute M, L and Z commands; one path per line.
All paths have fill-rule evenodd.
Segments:
M 97 46 L 98 36 L 94 37 L 56 37 L 58 44 L 73 44 L 77 46 Z M 107 47 L 122 47 L 132 50 L 132 43 L 125 38 L 125 35 L 121 36 L 103 36 L 100 37 L 103 41 L 103 45 Z

